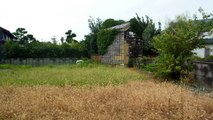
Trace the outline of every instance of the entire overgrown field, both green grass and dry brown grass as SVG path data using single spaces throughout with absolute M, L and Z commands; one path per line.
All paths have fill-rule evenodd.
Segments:
M 0 120 L 213 119 L 213 94 L 152 79 L 133 69 L 90 63 L 0 65 Z

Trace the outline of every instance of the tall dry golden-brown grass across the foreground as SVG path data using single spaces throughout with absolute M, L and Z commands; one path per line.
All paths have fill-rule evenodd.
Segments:
M 212 120 L 213 98 L 171 83 L 0 87 L 0 119 Z

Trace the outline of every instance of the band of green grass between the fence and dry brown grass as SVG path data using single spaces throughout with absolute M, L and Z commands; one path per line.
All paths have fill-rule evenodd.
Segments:
M 143 79 L 140 73 L 124 67 L 94 63 L 43 67 L 0 65 L 1 86 L 106 86 Z

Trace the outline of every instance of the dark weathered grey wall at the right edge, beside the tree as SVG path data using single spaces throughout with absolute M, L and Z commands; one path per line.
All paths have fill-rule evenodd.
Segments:
M 213 87 L 213 62 L 194 62 L 194 74 L 198 85 Z

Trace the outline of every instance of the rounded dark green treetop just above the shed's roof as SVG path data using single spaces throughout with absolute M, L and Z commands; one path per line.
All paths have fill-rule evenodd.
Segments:
M 106 29 L 106 28 L 110 28 L 116 25 L 120 25 L 125 23 L 124 20 L 114 20 L 114 19 L 106 19 L 103 23 L 102 23 L 102 29 Z

